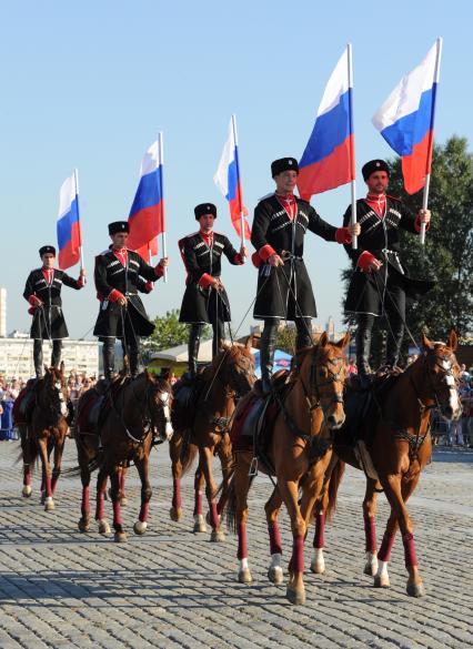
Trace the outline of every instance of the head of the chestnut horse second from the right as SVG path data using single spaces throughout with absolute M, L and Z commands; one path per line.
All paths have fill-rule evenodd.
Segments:
M 338 343 L 331 343 L 324 332 L 316 345 L 302 351 L 299 374 L 312 407 L 320 406 L 326 426 L 336 430 L 345 420 L 343 385 L 346 378 L 344 348 L 350 343 L 345 334 Z

